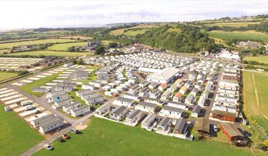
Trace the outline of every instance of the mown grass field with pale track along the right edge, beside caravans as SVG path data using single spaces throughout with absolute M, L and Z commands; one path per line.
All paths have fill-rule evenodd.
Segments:
M 254 141 L 262 142 L 268 131 L 268 75 L 243 72 L 243 111 L 249 119 L 249 128 L 257 135 Z

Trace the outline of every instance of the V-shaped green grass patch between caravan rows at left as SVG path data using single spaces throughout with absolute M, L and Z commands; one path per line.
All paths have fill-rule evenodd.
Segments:
M 27 83 L 24 86 L 21 86 L 19 89 L 33 96 L 40 97 L 45 93 L 44 92 L 32 92 L 32 88 L 45 86 L 45 83 L 49 83 L 52 80 L 56 79 L 58 75 L 60 75 L 60 73 L 56 73 L 56 74 L 41 78 L 39 80 L 33 81 L 32 83 Z

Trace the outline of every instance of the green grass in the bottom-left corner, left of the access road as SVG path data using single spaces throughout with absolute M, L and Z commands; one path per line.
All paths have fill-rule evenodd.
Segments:
M 5 112 L 0 104 L 0 155 L 20 155 L 44 138 L 13 112 Z

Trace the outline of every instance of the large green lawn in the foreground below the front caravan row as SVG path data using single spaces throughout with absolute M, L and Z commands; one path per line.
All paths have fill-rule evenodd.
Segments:
M 53 151 L 34 155 L 251 155 L 249 148 L 225 142 L 191 142 L 101 118 L 90 119 L 82 134 L 69 135 L 71 140 L 53 142 Z

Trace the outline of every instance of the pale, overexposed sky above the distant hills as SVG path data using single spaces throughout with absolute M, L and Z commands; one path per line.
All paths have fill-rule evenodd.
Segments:
M 0 1 L 0 30 L 268 14 L 268 1 Z

